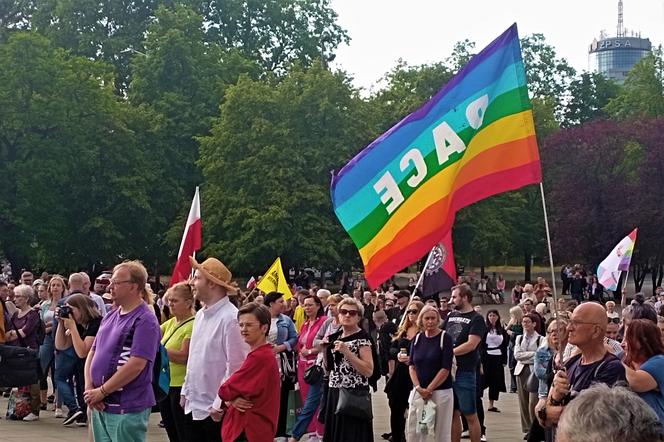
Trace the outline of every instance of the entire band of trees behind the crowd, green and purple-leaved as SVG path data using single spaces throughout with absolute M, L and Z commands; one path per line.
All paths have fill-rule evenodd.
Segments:
M 16 269 L 138 257 L 168 272 L 200 185 L 204 253 L 236 274 L 275 256 L 359 266 L 330 171 L 476 49 L 462 40 L 430 64 L 400 60 L 362 96 L 330 68 L 347 41 L 329 0 L 0 4 L 0 251 Z M 635 259 L 660 268 L 661 51 L 617 85 L 577 75 L 541 34 L 521 44 L 556 260 L 594 265 L 639 225 Z M 532 257 L 548 259 L 539 189 L 461 210 L 454 240 L 461 263 L 524 263 L 528 277 Z

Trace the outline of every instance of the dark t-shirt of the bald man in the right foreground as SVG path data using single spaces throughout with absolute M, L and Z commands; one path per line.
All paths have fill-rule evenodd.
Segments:
M 571 398 L 594 384 L 606 384 L 611 387 L 616 382 L 626 381 L 625 367 L 616 355 L 608 352 L 602 360 L 586 365 L 581 364 L 581 355 L 576 355 L 567 361 L 565 367 L 572 386 Z

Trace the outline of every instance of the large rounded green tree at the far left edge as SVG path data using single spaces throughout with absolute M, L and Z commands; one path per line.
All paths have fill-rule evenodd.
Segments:
M 35 34 L 0 45 L 0 247 L 15 269 L 91 268 L 154 245 L 151 120 L 112 79 Z

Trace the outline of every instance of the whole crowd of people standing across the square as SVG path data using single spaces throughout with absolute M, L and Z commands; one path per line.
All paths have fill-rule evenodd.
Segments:
M 191 262 L 190 281 L 157 294 L 138 261 L 92 288 L 86 273 L 0 281 L 0 343 L 38 351 L 43 374 L 4 392 L 8 418 L 52 411 L 65 426 L 87 426 L 89 440 L 131 442 L 145 440 L 158 410 L 170 441 L 364 442 L 380 385 L 391 442 L 487 440 L 485 412 L 500 413 L 507 392 L 518 397 L 524 440 L 664 440 L 661 288 L 618 311 L 577 269 L 565 287 L 573 299 L 555 306 L 543 278 L 515 284 L 503 321 L 473 304 L 505 302 L 502 275 L 461 277 L 426 298 L 394 284 L 263 293 L 241 291 L 218 259 Z M 577 274 L 587 282 L 580 294 Z M 614 419 L 593 408 L 607 390 L 620 400 Z

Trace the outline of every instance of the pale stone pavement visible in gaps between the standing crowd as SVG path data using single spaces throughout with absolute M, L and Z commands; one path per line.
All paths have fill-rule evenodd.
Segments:
M 497 307 L 503 322 L 509 320 L 507 314 L 510 305 L 482 306 L 483 316 L 490 308 Z M 506 370 L 507 373 L 507 370 Z M 509 386 L 509 379 L 507 380 Z M 382 385 L 381 385 L 382 387 Z M 486 396 L 486 395 L 485 395 Z M 380 435 L 389 432 L 390 409 L 382 388 L 373 396 L 374 404 L 374 440 L 382 441 Z M 501 413 L 486 413 L 485 425 L 487 427 L 487 440 L 490 442 L 518 442 L 523 440 L 519 418 L 519 405 L 516 394 L 501 393 L 496 406 Z M 488 407 L 485 400 L 484 408 Z M 5 419 L 7 399 L 0 399 L 0 442 L 63 442 L 87 440 L 87 429 L 77 427 L 63 427 L 62 419 L 55 419 L 52 411 L 42 412 L 40 420 L 36 422 L 16 422 Z M 148 442 L 166 442 L 166 432 L 159 428 L 159 414 L 152 414 L 148 433 Z M 463 439 L 462 439 L 463 440 Z M 466 439 L 467 440 L 467 439 Z

